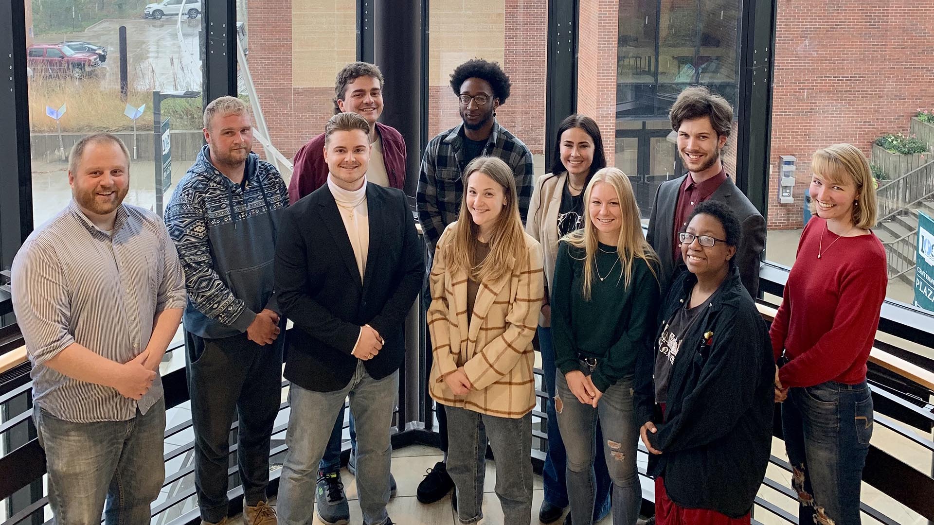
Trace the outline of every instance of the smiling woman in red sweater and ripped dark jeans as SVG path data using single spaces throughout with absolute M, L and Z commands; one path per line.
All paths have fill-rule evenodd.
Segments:
M 859 490 L 872 435 L 866 361 L 888 282 L 885 250 L 870 231 L 876 195 L 856 147 L 818 149 L 811 164 L 812 210 L 784 301 L 771 324 L 781 367 L 788 460 L 799 523 L 858 524 Z

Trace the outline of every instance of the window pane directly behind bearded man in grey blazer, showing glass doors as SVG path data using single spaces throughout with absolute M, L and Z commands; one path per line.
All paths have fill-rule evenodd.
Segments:
M 578 111 L 600 124 L 607 162 L 630 177 L 644 218 L 658 184 L 683 173 L 668 120 L 678 93 L 701 84 L 736 105 L 741 10 L 740 0 L 580 3 Z M 736 140 L 734 126 L 731 176 Z

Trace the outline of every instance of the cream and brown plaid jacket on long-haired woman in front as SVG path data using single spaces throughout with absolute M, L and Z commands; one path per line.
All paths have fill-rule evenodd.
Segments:
M 446 257 L 453 242 L 452 222 L 438 239 L 430 276 L 432 305 L 428 329 L 434 363 L 429 392 L 440 404 L 501 418 L 521 418 L 535 406 L 531 339 L 544 298 L 542 248 L 526 235 L 526 250 L 512 276 L 481 283 L 467 323 L 467 274 Z M 464 368 L 474 386 L 455 395 L 444 376 Z

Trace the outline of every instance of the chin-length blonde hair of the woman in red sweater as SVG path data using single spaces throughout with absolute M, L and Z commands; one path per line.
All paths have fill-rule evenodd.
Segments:
M 856 185 L 856 201 L 853 203 L 853 225 L 869 230 L 876 223 L 878 205 L 872 170 L 866 156 L 852 144 L 834 144 L 814 151 L 811 156 L 811 171 L 830 183 Z M 811 213 L 816 213 L 814 199 Z

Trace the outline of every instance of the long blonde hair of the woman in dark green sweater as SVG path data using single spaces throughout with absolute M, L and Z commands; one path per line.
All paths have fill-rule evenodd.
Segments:
M 615 167 L 605 167 L 594 174 L 589 184 L 587 184 L 587 190 L 584 192 L 584 228 L 561 238 L 574 248 L 584 249 L 584 283 L 581 291 L 587 301 L 590 300 L 590 290 L 593 286 L 593 267 L 599 249 L 597 227 L 593 225 L 593 220 L 590 219 L 590 195 L 593 193 L 594 187 L 601 183 L 609 184 L 616 190 L 619 209 L 622 212 L 622 226 L 619 228 L 616 251 L 619 254 L 619 260 L 623 262 L 620 277 L 625 277 L 624 286 L 630 286 L 632 263 L 637 258 L 642 259 L 648 265 L 649 271 L 658 280 L 658 274 L 655 270 L 655 265 L 658 264 L 658 255 L 645 241 L 645 236 L 642 233 L 642 215 L 639 213 L 636 197 L 632 193 L 630 179 Z

